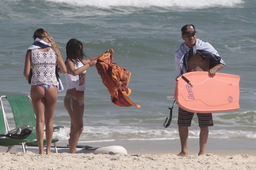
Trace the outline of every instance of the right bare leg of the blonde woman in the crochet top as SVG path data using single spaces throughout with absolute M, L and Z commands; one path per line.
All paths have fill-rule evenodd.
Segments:
M 45 136 L 46 136 L 46 154 L 50 154 L 53 133 L 53 113 L 55 111 L 58 99 L 58 88 L 51 87 L 45 93 Z

